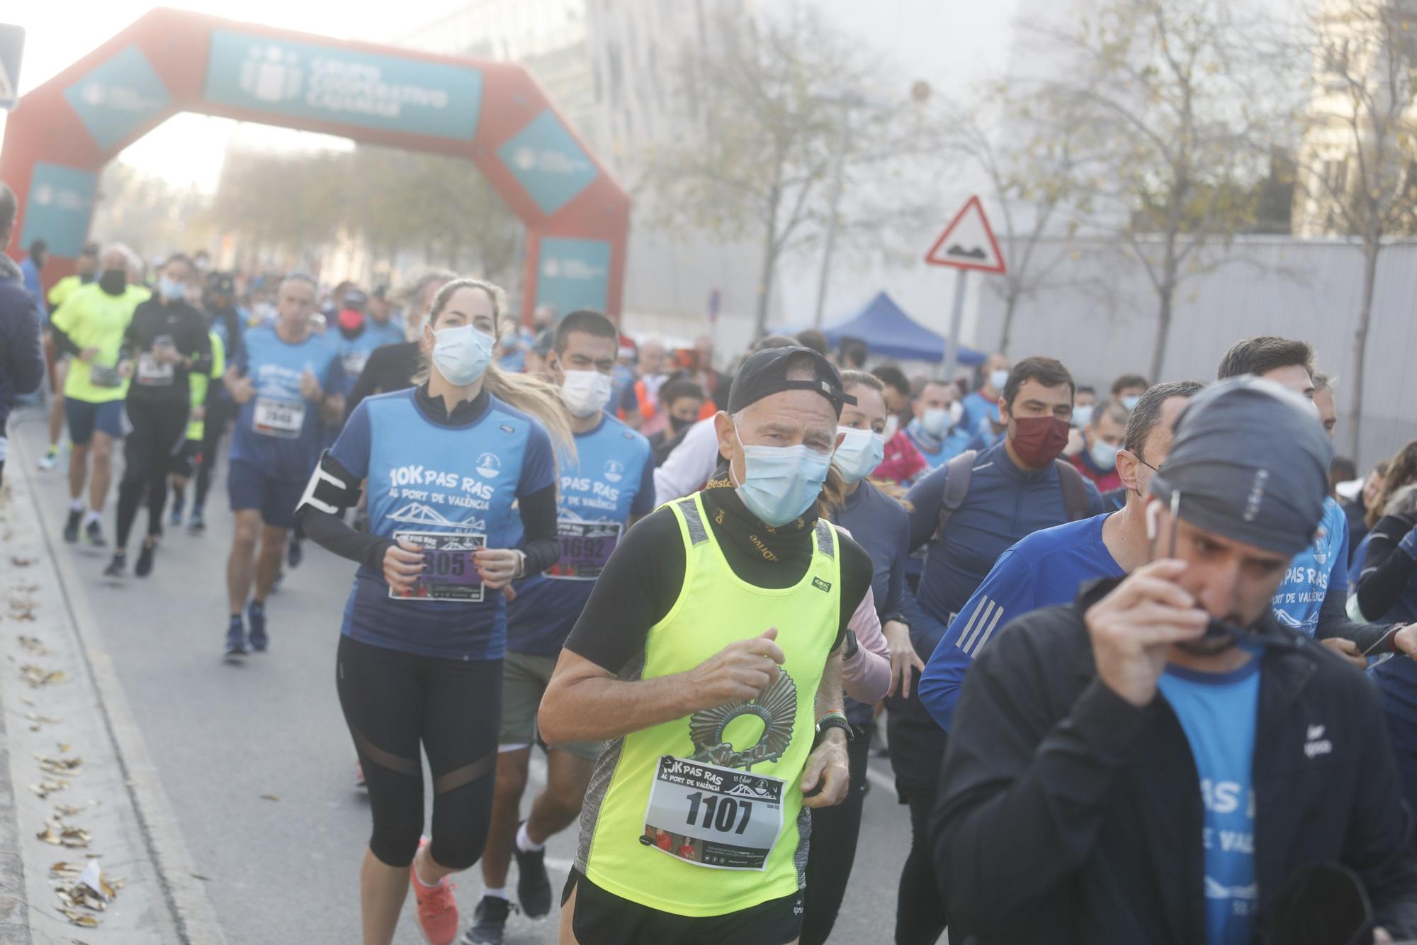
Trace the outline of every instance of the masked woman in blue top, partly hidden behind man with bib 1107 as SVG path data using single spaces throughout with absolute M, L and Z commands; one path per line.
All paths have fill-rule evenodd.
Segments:
M 913 674 L 924 668 L 910 643 L 910 627 L 903 621 L 903 600 L 910 593 L 905 587 L 910 519 L 900 502 L 866 478 L 880 465 L 886 451 L 886 390 L 880 379 L 857 370 L 842 373 L 842 389 L 856 403 L 842 407 L 837 427 L 842 444 L 836 447 L 832 463 L 846 482 L 846 498 L 832 514 L 832 521 L 852 532 L 870 552 L 871 597 L 891 660 L 890 692 L 900 688 L 908 694 Z M 852 783 L 845 802 L 812 812 L 801 945 L 826 942 L 846 895 L 866 800 L 874 711 L 873 704 L 846 700 L 846 721 L 853 735 L 847 745 Z

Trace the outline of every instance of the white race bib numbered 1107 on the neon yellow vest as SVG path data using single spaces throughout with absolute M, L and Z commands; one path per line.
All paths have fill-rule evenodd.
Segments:
M 639 841 L 716 870 L 764 870 L 782 834 L 781 778 L 660 755 Z

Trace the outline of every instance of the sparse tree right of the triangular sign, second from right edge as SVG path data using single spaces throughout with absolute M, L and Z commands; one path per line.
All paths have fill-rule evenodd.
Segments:
M 1037 28 L 1063 78 L 1040 98 L 1097 135 L 1090 226 L 1115 236 L 1156 295 L 1151 376 L 1162 376 L 1176 291 L 1197 250 L 1254 216 L 1271 99 L 1241 0 L 1108 0 L 1071 31 Z

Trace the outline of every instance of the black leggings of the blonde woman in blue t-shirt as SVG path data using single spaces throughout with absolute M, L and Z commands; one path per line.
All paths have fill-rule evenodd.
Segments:
M 434 776 L 432 857 L 466 870 L 492 820 L 502 660 L 449 660 L 340 637 L 336 687 L 364 766 L 381 863 L 407 867 L 424 831 L 422 742 Z

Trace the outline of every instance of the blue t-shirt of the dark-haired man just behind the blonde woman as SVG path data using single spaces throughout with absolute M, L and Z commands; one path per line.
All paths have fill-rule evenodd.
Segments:
M 594 429 L 575 434 L 575 455 L 561 470 L 561 559 L 513 586 L 517 596 L 507 604 L 513 653 L 561 653 L 631 516 L 655 508 L 655 460 L 639 433 L 602 413 Z M 513 541 L 521 541 L 520 521 L 512 522 L 512 531 Z

